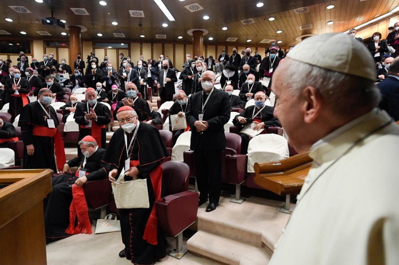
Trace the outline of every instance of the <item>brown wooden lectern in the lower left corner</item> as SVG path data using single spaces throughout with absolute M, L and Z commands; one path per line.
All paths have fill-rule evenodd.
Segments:
M 45 265 L 43 198 L 52 170 L 0 170 L 0 263 Z

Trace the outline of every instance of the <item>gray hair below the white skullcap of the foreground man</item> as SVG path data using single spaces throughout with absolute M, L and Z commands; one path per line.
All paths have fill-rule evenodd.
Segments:
M 285 83 L 291 94 L 298 95 L 307 86 L 317 88 L 323 100 L 339 116 L 351 115 L 361 109 L 372 109 L 380 102 L 380 91 L 372 80 L 296 60 L 285 63 Z

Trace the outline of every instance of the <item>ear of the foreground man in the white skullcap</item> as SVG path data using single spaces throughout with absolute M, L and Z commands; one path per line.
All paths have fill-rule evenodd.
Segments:
M 304 121 L 312 123 L 318 116 L 321 109 L 322 97 L 317 88 L 306 87 L 302 91 Z

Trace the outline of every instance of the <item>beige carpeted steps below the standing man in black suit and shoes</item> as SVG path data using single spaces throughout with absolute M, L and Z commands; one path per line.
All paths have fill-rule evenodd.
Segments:
M 205 212 L 206 203 L 200 206 L 191 227 L 197 233 L 187 241 L 190 253 L 219 264 L 267 264 L 290 217 L 279 212 L 282 202 L 250 197 L 236 204 L 228 196 L 220 199 L 212 212 Z

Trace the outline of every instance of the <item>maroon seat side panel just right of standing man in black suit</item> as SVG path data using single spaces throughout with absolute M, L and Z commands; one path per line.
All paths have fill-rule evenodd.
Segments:
M 227 155 L 226 170 L 228 182 L 230 184 L 241 184 L 245 180 L 247 160 L 246 155 Z

